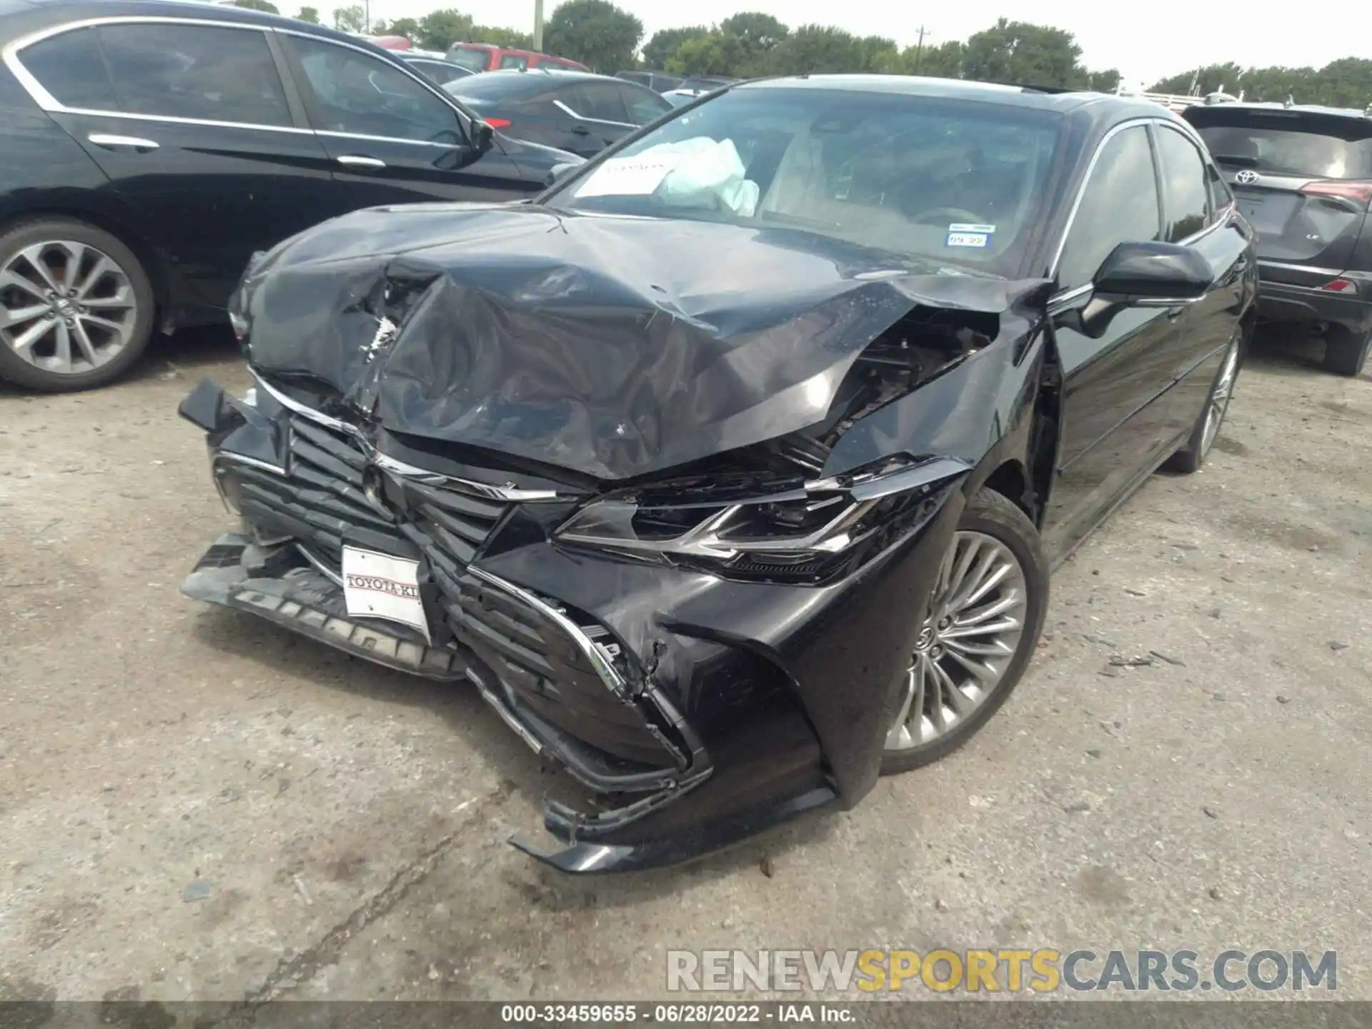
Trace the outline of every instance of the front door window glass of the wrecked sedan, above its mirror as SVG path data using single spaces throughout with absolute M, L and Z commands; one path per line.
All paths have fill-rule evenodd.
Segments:
M 1157 180 L 1143 125 L 1131 126 L 1104 144 L 1062 248 L 1061 289 L 1089 283 L 1121 243 L 1162 239 Z

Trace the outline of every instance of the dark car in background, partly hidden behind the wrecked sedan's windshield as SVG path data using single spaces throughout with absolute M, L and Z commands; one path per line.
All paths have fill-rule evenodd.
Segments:
M 583 158 L 672 110 L 646 86 L 583 71 L 486 71 L 445 89 L 508 136 Z

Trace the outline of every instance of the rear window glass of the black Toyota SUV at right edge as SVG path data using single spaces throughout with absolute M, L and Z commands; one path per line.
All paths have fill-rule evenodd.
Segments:
M 1227 111 L 1191 119 L 1216 162 L 1310 178 L 1372 178 L 1372 119 Z

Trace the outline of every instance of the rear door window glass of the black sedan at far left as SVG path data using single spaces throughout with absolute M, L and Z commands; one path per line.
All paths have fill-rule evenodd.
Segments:
M 97 30 L 121 111 L 291 125 L 266 36 L 202 25 L 103 25 Z

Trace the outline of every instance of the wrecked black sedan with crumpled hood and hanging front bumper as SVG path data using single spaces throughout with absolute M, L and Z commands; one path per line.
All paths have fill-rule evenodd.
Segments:
M 532 203 L 259 255 L 254 388 L 181 407 L 241 525 L 182 590 L 477 689 L 595 794 L 527 852 L 683 860 L 1004 704 L 1050 569 L 1205 460 L 1254 288 L 1151 103 L 738 85 Z

